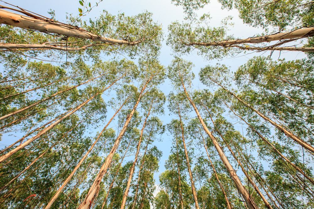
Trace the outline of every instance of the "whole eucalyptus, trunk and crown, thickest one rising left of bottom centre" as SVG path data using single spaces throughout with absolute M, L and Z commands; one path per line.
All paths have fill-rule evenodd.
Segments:
M 145 92 L 145 89 L 147 87 L 157 86 L 163 82 L 165 78 L 164 67 L 160 65 L 157 60 L 148 60 L 148 61 L 140 60 L 140 74 L 138 78 L 140 81 L 141 91 L 138 93 L 138 98 L 136 102 L 134 103 L 134 107 L 131 110 L 131 112 L 129 112 L 129 114 L 127 115 L 125 123 L 122 127 L 122 130 L 119 133 L 118 137 L 116 138 L 116 142 L 114 143 L 111 151 L 106 157 L 106 161 L 101 166 L 100 171 L 94 180 L 94 183 L 90 186 L 89 192 L 87 193 L 85 200 L 82 202 L 82 204 L 78 208 L 89 208 L 91 204 L 93 203 L 93 201 L 95 200 L 99 192 L 99 188 L 100 188 L 99 186 L 100 186 L 102 177 L 106 174 L 107 169 L 109 168 L 109 165 L 112 161 L 112 156 L 116 152 L 116 149 L 118 148 L 121 142 L 123 134 L 127 130 L 127 126 L 130 123 L 132 116 L 138 104 L 141 101 L 142 96 L 147 92 L 147 91 Z

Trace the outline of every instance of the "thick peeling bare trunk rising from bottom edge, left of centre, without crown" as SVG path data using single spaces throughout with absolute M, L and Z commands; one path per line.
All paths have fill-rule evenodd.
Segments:
M 97 197 L 98 192 L 100 190 L 100 182 L 101 182 L 103 176 L 107 173 L 107 170 L 108 170 L 108 168 L 111 164 L 111 161 L 112 161 L 112 157 L 116 153 L 116 150 L 118 149 L 118 146 L 122 140 L 122 137 L 123 137 L 124 133 L 126 132 L 127 127 L 131 121 L 131 118 L 133 117 L 133 114 L 134 114 L 134 112 L 138 106 L 138 103 L 140 102 L 140 100 L 142 98 L 142 94 L 143 94 L 144 90 L 146 89 L 149 81 L 151 81 L 152 78 L 153 77 L 150 77 L 146 81 L 146 83 L 143 85 L 143 88 L 142 88 L 142 90 L 138 96 L 138 100 L 136 101 L 132 111 L 127 115 L 126 121 L 123 125 L 121 132 L 119 133 L 119 136 L 116 138 L 116 141 L 115 141 L 111 151 L 107 155 L 105 162 L 101 166 L 100 171 L 98 172 L 98 174 L 94 180 L 94 183 L 90 186 L 89 191 L 87 193 L 87 196 L 85 197 L 84 201 L 80 204 L 80 206 L 78 206 L 78 209 L 88 209 L 92 206 L 93 202 L 95 201 L 95 198 Z

